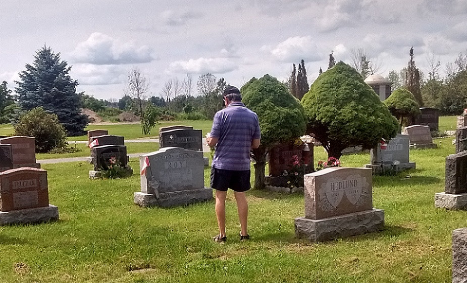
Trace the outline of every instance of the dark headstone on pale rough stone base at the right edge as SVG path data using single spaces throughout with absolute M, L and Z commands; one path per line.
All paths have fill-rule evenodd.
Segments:
M 446 157 L 444 192 L 435 194 L 435 207 L 467 209 L 467 151 Z

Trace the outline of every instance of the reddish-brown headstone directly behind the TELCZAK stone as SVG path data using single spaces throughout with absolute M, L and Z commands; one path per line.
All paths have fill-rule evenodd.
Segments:
M 36 146 L 34 140 L 34 137 L 22 136 L 0 139 L 0 144 L 11 144 L 12 146 L 13 168 L 40 168 L 40 163 L 36 163 Z

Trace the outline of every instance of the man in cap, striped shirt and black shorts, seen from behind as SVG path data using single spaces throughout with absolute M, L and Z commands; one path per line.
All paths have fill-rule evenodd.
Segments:
M 225 242 L 225 199 L 228 188 L 237 201 L 240 218 L 240 240 L 249 239 L 247 233 L 248 203 L 245 192 L 250 189 L 250 151 L 260 146 L 260 124 L 255 112 L 241 102 L 238 88 L 229 86 L 224 91 L 226 108 L 214 116 L 213 129 L 207 144 L 216 146 L 211 168 L 211 187 L 216 189 L 216 216 L 219 235 L 216 242 Z

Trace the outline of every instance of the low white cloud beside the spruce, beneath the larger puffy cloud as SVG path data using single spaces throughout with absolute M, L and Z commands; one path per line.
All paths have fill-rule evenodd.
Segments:
M 128 70 L 117 65 L 76 64 L 70 73 L 80 85 L 111 85 L 125 83 Z

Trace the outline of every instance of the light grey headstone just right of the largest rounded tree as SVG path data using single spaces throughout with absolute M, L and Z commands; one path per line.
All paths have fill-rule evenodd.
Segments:
M 409 161 L 408 135 L 398 134 L 386 145 L 378 146 L 370 151 L 371 164 L 365 167 L 372 168 L 374 174 L 398 172 L 416 167 L 415 162 Z

